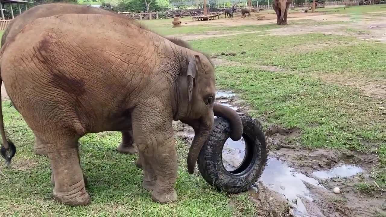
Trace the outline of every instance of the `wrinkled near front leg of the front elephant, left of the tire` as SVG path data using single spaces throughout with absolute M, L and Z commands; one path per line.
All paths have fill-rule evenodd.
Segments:
M 177 178 L 177 155 L 171 115 L 156 111 L 152 118 L 133 114 L 133 134 L 144 168 L 143 186 L 153 190 L 152 200 L 166 203 L 177 200 L 174 185 Z M 149 114 L 152 114 L 149 112 Z M 158 117 L 155 117 L 158 116 Z

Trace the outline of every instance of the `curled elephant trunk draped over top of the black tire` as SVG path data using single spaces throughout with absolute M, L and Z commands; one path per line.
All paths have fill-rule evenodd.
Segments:
M 217 117 L 222 117 L 230 122 L 230 138 L 233 141 L 238 141 L 242 136 L 242 122 L 240 115 L 232 108 L 214 103 L 213 113 Z

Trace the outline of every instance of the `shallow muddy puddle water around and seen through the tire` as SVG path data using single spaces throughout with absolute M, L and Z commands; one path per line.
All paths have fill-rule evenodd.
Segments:
M 232 100 L 235 99 L 233 97 L 237 96 L 232 92 L 217 92 L 216 102 L 231 107 L 236 111 L 239 111 L 237 107 L 234 107 L 231 104 Z M 187 131 L 186 129 L 183 129 L 183 132 L 185 132 L 185 137 L 188 137 L 190 139 L 192 139 L 194 136 L 193 131 Z M 298 135 L 298 133 L 299 132 L 296 131 L 296 135 Z M 275 131 L 272 132 L 272 135 L 269 135 L 274 136 L 276 134 L 280 134 L 280 132 Z M 269 135 L 267 134 L 268 143 Z M 291 136 L 292 134 L 289 133 L 289 135 Z M 244 139 L 240 139 L 239 141 L 233 141 L 229 138 L 225 142 L 222 152 L 222 160 L 224 167 L 228 171 L 234 170 L 242 163 L 244 155 Z M 255 185 L 253 185 L 254 187 L 251 188 L 250 192 L 254 191 L 255 194 L 264 195 L 264 191 L 269 190 L 271 192 L 274 192 L 274 194 L 279 195 L 278 197 L 281 197 L 280 199 L 284 201 L 284 203 L 287 203 L 287 205 L 290 207 L 290 215 L 286 214 L 279 216 L 345 216 L 330 214 L 330 208 L 326 208 L 326 205 L 320 205 L 320 202 L 328 201 L 328 198 L 343 196 L 334 194 L 332 192 L 332 186 L 326 184 L 326 182 L 331 181 L 334 178 L 347 178 L 359 175 L 360 173 L 364 172 L 361 167 L 353 164 L 344 164 L 343 162 L 339 162 L 328 169 L 325 167 L 320 167 L 313 168 L 313 170 L 310 171 L 305 169 L 303 170 L 301 166 L 297 165 L 299 163 L 297 161 L 288 161 L 288 163 L 295 163 L 292 164 L 295 168 L 291 167 L 290 165 L 288 165 L 286 160 L 287 159 L 283 159 L 283 156 L 276 156 L 276 153 L 271 152 L 271 154 L 269 154 L 266 168 L 262 173 L 261 178 Z M 332 185 L 334 185 L 334 183 Z M 253 193 L 251 195 L 253 195 Z M 321 197 L 320 195 L 325 196 Z M 254 200 L 253 196 L 251 197 L 252 200 Z M 268 199 L 269 198 L 271 197 L 268 197 Z M 326 202 L 325 204 L 331 203 Z

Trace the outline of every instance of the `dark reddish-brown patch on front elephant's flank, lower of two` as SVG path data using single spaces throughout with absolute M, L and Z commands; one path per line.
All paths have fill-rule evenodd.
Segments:
M 52 73 L 50 84 L 66 93 L 73 93 L 76 96 L 81 96 L 86 92 L 85 81 L 83 79 L 71 78 L 61 71 Z

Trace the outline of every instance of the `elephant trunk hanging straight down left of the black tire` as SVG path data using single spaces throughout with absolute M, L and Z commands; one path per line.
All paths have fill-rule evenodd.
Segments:
M 194 168 L 196 166 L 198 154 L 200 153 L 202 146 L 205 144 L 205 142 L 207 142 L 208 137 L 210 135 L 210 131 L 212 131 L 213 113 L 210 116 L 211 116 L 210 117 L 211 122 L 201 121 L 200 126 L 193 127 L 195 131 L 195 135 L 188 154 L 188 173 L 189 174 L 194 173 Z

